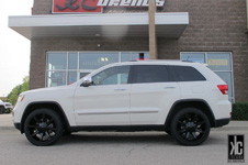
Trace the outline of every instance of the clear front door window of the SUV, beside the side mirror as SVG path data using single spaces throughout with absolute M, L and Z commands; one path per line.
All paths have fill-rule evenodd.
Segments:
M 108 68 L 92 77 L 93 85 L 123 85 L 127 84 L 131 66 L 115 66 Z

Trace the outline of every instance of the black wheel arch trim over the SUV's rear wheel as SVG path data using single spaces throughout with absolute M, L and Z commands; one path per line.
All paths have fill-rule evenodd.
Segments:
M 206 114 L 206 117 L 210 120 L 211 128 L 216 127 L 216 121 L 215 121 L 214 113 L 213 113 L 210 105 L 205 100 L 202 100 L 202 99 L 187 99 L 187 100 L 176 101 L 173 103 L 173 106 L 171 107 L 171 109 L 170 109 L 170 111 L 169 111 L 169 113 L 168 113 L 168 116 L 166 118 L 166 121 L 165 121 L 166 130 L 170 130 L 170 123 L 172 121 L 172 118 L 182 108 L 198 108 L 199 110 L 201 110 L 202 112 L 204 112 Z

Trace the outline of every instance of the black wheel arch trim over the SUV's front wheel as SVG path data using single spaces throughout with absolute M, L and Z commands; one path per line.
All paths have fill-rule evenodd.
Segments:
M 61 106 L 58 102 L 55 102 L 55 101 L 38 101 L 38 102 L 32 102 L 32 103 L 26 106 L 24 113 L 22 116 L 22 119 L 21 119 L 21 133 L 24 132 L 24 122 L 25 122 L 27 116 L 31 112 L 33 112 L 33 111 L 35 111 L 36 109 L 40 109 L 40 108 L 47 108 L 47 109 L 52 109 L 53 111 L 57 112 L 59 114 L 59 117 L 61 118 L 63 122 L 64 122 L 65 129 L 69 128 L 69 121 L 68 121 Z

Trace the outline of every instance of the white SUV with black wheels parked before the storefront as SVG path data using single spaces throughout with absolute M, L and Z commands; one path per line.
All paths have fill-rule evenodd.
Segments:
M 13 122 L 34 145 L 78 131 L 166 131 L 183 145 L 228 124 L 227 85 L 204 64 L 143 61 L 104 66 L 79 81 L 20 95 Z

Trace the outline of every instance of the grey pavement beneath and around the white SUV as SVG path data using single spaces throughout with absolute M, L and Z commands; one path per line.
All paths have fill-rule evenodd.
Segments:
M 227 135 L 245 134 L 248 122 L 232 121 L 212 129 L 200 146 L 181 146 L 164 132 L 80 132 L 63 136 L 53 146 L 34 146 L 13 128 L 10 114 L 0 116 L 1 165 L 222 165 L 227 163 Z

